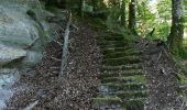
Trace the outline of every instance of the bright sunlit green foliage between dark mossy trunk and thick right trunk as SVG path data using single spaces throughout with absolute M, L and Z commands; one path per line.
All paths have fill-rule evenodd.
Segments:
M 142 37 L 167 41 L 170 29 L 170 0 L 157 0 L 150 4 L 147 0 L 138 2 L 138 32 Z M 153 35 L 150 35 L 155 29 Z

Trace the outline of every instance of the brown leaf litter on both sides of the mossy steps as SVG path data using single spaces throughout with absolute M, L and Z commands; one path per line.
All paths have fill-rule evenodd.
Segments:
M 28 107 L 37 110 L 90 110 L 91 98 L 98 92 L 98 76 L 102 61 L 96 38 L 100 34 L 91 30 L 87 23 L 78 24 L 78 30 L 72 32 L 65 80 L 53 90 L 51 88 L 58 79 L 62 46 L 54 42 L 48 43 L 43 62 L 14 85 L 16 92 L 8 101 L 8 110 Z M 150 89 L 145 109 L 180 110 L 177 70 L 169 61 L 164 45 L 146 40 L 141 40 L 135 45 L 136 50 L 144 51 L 147 56 L 142 64 Z

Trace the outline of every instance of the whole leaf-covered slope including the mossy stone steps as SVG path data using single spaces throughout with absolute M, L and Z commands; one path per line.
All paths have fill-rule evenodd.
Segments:
M 14 94 L 8 110 L 36 100 L 38 110 L 180 110 L 176 69 L 163 45 L 77 25 L 61 87 L 47 92 L 57 82 L 62 56 L 59 44 L 52 42 L 43 62 L 15 85 L 26 88 Z

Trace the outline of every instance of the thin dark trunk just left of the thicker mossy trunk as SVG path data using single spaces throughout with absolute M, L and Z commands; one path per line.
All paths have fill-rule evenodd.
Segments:
M 125 0 L 121 1 L 121 25 L 125 26 Z

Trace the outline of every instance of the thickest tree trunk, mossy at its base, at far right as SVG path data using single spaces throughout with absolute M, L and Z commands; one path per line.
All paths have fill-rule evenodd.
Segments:
M 168 36 L 169 50 L 173 54 L 179 54 L 183 48 L 184 16 L 183 0 L 172 0 L 172 28 Z

